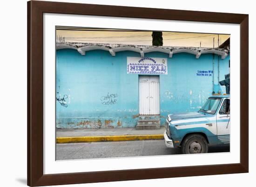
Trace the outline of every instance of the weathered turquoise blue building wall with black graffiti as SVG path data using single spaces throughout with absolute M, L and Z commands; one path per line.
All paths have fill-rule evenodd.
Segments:
M 146 57 L 168 58 L 161 52 Z M 135 127 L 139 116 L 138 75 L 127 74 L 127 57 L 136 52 L 95 50 L 82 56 L 72 49 L 56 52 L 56 125 L 57 128 Z M 215 55 L 215 92 L 218 85 L 218 56 Z M 220 58 L 220 80 L 229 73 L 229 56 Z M 212 76 L 198 76 L 213 69 L 213 55 L 199 59 L 189 53 L 168 58 L 168 75 L 160 75 L 162 124 L 167 114 L 197 111 L 212 94 Z

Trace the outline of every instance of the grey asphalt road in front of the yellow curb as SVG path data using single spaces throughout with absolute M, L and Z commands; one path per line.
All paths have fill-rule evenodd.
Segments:
M 229 152 L 229 145 L 209 147 L 209 153 Z M 182 154 L 163 140 L 56 144 L 56 160 Z

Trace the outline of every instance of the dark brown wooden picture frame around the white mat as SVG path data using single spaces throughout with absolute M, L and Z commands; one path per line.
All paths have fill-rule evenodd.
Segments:
M 43 13 L 169 19 L 240 24 L 240 163 L 43 174 Z M 27 185 L 46 186 L 249 172 L 249 15 L 106 6 L 49 1 L 27 2 Z

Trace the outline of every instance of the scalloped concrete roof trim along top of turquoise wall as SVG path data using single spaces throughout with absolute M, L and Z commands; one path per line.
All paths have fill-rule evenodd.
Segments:
M 116 52 L 133 51 L 141 54 L 144 57 L 144 53 L 148 52 L 163 52 L 169 54 L 169 58 L 172 58 L 175 53 L 190 53 L 194 54 L 195 58 L 199 58 L 201 54 L 213 53 L 220 55 L 222 59 L 228 56 L 228 51 L 224 49 L 213 48 L 196 48 L 196 47 L 173 47 L 173 46 L 146 46 L 146 45 L 119 45 L 119 44 L 81 44 L 81 43 L 57 43 L 56 49 L 74 49 L 85 55 L 87 51 L 92 50 L 104 50 L 108 51 L 112 56 L 115 56 Z

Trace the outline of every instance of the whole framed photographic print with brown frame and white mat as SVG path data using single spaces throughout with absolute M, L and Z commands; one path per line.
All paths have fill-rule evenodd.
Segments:
M 29 186 L 248 172 L 248 15 L 27 11 Z

